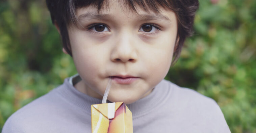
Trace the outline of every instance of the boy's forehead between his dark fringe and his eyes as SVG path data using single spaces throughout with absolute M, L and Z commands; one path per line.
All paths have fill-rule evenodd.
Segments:
M 98 18 L 138 18 L 143 20 L 172 20 L 175 19 L 175 13 L 172 10 L 158 7 L 157 11 L 151 9 L 144 9 L 139 5 L 130 8 L 125 3 L 118 0 L 111 0 L 107 3 L 104 2 L 102 7 L 99 8 L 95 5 L 84 6 L 76 9 L 76 16 L 78 20 L 98 19 Z

